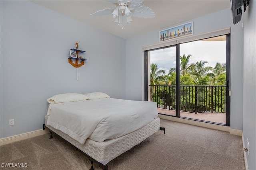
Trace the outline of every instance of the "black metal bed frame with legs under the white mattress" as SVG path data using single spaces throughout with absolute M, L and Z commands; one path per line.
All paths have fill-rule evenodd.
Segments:
M 49 129 L 45 124 L 43 124 L 43 130 L 45 130 L 45 128 Z M 165 134 L 165 127 L 160 127 L 159 129 L 160 131 L 164 131 L 164 134 Z M 53 131 L 51 131 L 51 129 L 49 129 L 50 131 L 50 138 L 49 139 L 52 139 L 52 133 L 54 133 Z M 55 133 L 56 135 L 58 135 L 57 133 Z M 58 135 L 60 136 L 60 135 Z M 62 138 L 62 137 L 61 137 Z M 63 139 L 63 138 L 62 138 Z M 65 140 L 65 139 L 64 139 Z M 66 141 L 66 140 L 65 140 Z M 67 141 L 68 142 L 68 141 Z M 70 143 L 70 142 L 68 142 Z M 71 144 L 72 145 L 72 144 Z M 84 153 L 82 150 L 78 149 L 77 147 L 75 147 L 74 145 L 72 145 L 74 148 L 76 148 L 78 151 L 82 152 L 91 162 L 91 167 L 89 170 L 94 170 L 94 167 L 93 167 L 93 162 L 96 162 L 98 164 L 98 166 L 100 168 L 102 168 L 102 170 L 108 170 L 108 164 L 104 165 L 100 162 L 98 162 L 97 160 L 95 160 L 94 158 L 92 158 L 91 156 L 89 156 L 88 154 Z

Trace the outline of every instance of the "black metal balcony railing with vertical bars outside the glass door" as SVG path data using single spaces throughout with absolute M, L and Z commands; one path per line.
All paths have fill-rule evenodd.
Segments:
M 176 86 L 149 85 L 158 108 L 176 110 Z M 180 86 L 180 111 L 226 113 L 226 86 Z

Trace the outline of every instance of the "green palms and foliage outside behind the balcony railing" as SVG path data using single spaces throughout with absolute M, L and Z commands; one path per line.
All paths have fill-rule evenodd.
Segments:
M 214 68 L 206 67 L 207 61 L 188 64 L 191 56 L 180 56 L 180 110 L 226 112 L 226 64 L 216 63 Z M 176 68 L 170 68 L 168 75 L 157 64 L 150 68 L 150 84 L 156 85 L 151 86 L 151 101 L 176 109 Z

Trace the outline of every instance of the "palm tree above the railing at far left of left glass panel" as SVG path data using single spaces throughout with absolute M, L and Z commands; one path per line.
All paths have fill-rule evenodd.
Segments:
M 164 82 L 165 70 L 159 70 L 158 65 L 155 63 L 150 64 L 150 84 L 165 84 Z

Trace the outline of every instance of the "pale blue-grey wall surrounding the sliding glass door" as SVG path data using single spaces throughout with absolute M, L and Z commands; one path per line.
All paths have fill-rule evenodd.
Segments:
M 243 111 L 243 30 L 242 22 L 233 25 L 231 9 L 195 18 L 194 35 L 231 27 L 231 114 L 230 127 L 242 130 Z M 179 25 L 180 23 L 177 23 Z M 174 25 L 170 25 L 174 26 Z M 161 30 L 163 30 L 162 28 Z M 144 53 L 142 47 L 159 43 L 160 30 L 127 40 L 126 46 L 126 95 L 127 99 L 144 100 Z M 136 84 L 134 84 L 136 82 Z

